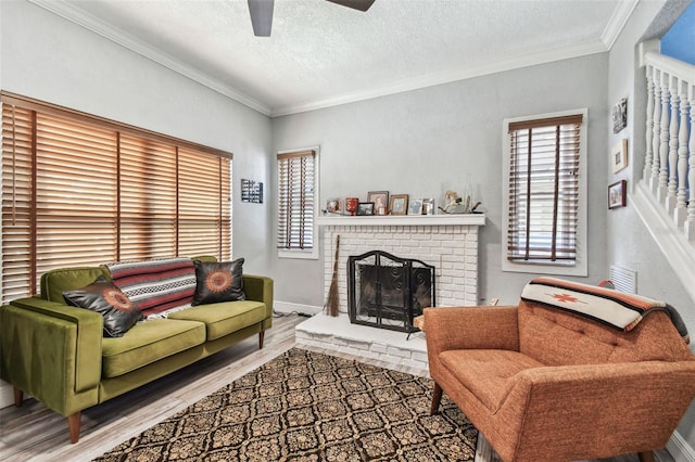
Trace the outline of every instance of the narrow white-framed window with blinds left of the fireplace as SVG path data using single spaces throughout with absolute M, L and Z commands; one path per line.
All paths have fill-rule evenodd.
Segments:
M 318 258 L 314 234 L 317 150 L 278 153 L 278 256 Z

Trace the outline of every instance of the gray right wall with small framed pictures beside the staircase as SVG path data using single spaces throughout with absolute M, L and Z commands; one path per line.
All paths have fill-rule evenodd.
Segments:
M 624 179 L 628 181 L 628 188 L 632 189 L 642 178 L 646 144 L 646 79 L 644 68 L 637 67 L 637 44 L 645 38 L 645 31 L 662 31 L 665 26 L 668 27 L 673 20 L 673 17 L 669 20 L 669 16 L 678 15 L 683 3 L 687 2 L 641 2 L 610 51 L 606 103 L 612 105 L 621 98 L 627 98 L 629 113 L 628 127 L 617 134 L 610 130 L 607 146 L 614 145 L 622 138 L 628 138 L 629 167 L 617 175 L 607 172 L 606 187 Z M 673 305 L 683 317 L 692 335 L 695 332 L 695 300 L 690 298 L 679 282 L 668 260 L 631 205 L 630 197 L 628 197 L 627 207 L 607 210 L 607 230 L 608 264 L 637 271 L 637 292 Z M 691 348 L 694 346 L 691 345 Z M 694 407 L 691 407 L 681 421 L 678 432 L 691 448 L 695 448 Z

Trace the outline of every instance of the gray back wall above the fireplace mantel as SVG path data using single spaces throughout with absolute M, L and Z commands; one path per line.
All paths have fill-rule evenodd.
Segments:
M 441 200 L 473 183 L 483 299 L 514 304 L 534 274 L 502 272 L 503 119 L 589 107 L 589 278 L 607 277 L 607 53 L 273 119 L 274 150 L 320 144 L 321 203 L 387 190 Z M 323 306 L 323 261 L 276 259 L 276 299 Z M 485 303 L 485 300 L 481 300 Z

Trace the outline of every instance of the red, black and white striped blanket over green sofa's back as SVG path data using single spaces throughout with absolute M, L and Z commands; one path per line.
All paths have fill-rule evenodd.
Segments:
M 195 293 L 195 267 L 190 258 L 162 258 L 108 264 L 113 282 L 144 316 L 190 305 Z

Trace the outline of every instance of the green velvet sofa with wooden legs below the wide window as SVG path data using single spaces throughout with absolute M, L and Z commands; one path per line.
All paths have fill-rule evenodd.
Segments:
M 195 257 L 214 261 L 213 257 Z M 217 352 L 254 334 L 263 348 L 273 322 L 273 280 L 243 274 L 245 300 L 198 305 L 103 336 L 103 317 L 66 305 L 63 291 L 111 278 L 105 266 L 41 275 L 40 294 L 0 307 L 0 376 L 14 401 L 29 394 L 67 416 L 72 442 L 81 411 Z

